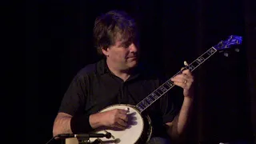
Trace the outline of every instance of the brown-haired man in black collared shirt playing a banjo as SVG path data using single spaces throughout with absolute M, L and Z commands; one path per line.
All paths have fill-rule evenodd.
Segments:
M 115 104 L 135 106 L 166 80 L 139 62 L 138 28 L 125 12 L 112 10 L 96 18 L 94 40 L 104 58 L 85 66 L 70 83 L 54 120 L 54 136 L 86 134 L 101 126 L 126 130 L 128 110 L 99 111 Z M 171 81 L 182 89 L 170 90 L 145 110 L 152 126 L 146 143 L 180 142 L 186 130 L 194 78 L 183 70 Z

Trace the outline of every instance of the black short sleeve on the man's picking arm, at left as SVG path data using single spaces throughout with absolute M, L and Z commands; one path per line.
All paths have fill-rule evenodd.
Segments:
M 80 113 L 85 106 L 86 100 L 86 77 L 77 75 L 70 82 L 59 107 L 58 112 L 63 112 L 74 116 Z

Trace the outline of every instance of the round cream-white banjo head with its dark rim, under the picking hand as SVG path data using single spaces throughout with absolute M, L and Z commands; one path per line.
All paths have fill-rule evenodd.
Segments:
M 111 138 L 90 138 L 90 142 L 106 143 L 106 144 L 130 144 L 147 142 L 150 138 L 152 129 L 150 126 L 150 118 L 146 115 L 143 117 L 135 106 L 127 104 L 117 104 L 104 108 L 100 112 L 128 109 L 128 126 L 125 130 L 114 129 L 110 127 L 100 127 L 94 130 L 93 134 L 106 134 L 109 132 Z M 78 144 L 77 138 L 66 138 L 66 144 Z

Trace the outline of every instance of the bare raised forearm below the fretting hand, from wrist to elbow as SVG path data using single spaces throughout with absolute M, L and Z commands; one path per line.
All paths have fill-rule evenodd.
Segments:
M 182 140 L 192 113 L 193 98 L 184 98 L 182 108 L 173 122 L 167 122 L 167 133 L 174 141 Z

